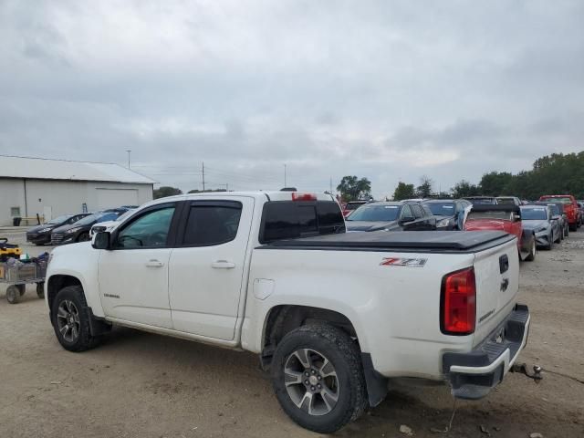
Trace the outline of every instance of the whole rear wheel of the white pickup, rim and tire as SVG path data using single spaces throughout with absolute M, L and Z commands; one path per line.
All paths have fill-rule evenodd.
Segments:
M 272 370 L 282 409 L 308 430 L 334 433 L 367 406 L 360 351 L 339 328 L 315 324 L 292 330 L 278 344 Z

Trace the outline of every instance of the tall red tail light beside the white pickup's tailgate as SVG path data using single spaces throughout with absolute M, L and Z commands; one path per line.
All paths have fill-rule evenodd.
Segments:
M 474 268 L 447 274 L 442 280 L 440 330 L 445 335 L 470 335 L 476 323 Z

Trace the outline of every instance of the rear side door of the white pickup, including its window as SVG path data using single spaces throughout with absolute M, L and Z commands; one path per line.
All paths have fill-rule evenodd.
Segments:
M 254 200 L 191 201 L 186 207 L 170 261 L 172 324 L 196 335 L 234 339 Z

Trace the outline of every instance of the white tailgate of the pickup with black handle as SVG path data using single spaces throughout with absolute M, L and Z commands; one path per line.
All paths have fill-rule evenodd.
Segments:
M 474 345 L 482 342 L 506 318 L 515 305 L 519 287 L 519 256 L 516 239 L 477 253 L 476 328 Z

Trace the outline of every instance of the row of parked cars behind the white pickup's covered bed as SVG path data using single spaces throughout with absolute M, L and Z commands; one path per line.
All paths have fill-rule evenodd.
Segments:
M 543 195 L 536 202 L 517 196 L 471 196 L 354 205 L 359 206 L 345 215 L 348 232 L 504 231 L 516 236 L 519 258 L 527 261 L 535 259 L 537 248 L 551 249 L 584 220 L 583 204 L 563 194 Z

